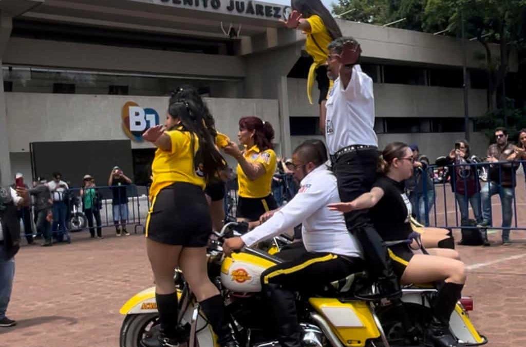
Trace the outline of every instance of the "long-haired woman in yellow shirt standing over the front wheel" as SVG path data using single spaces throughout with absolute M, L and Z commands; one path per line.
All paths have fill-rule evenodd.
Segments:
M 170 98 L 164 126 L 143 135 L 157 147 L 151 169 L 151 207 L 146 221 L 146 250 L 155 277 L 160 334 L 145 347 L 174 346 L 187 336 L 178 332 L 174 269 L 180 267 L 222 347 L 236 347 L 217 287 L 210 282 L 206 245 L 212 230 L 203 190 L 224 166 L 203 114 L 191 100 Z

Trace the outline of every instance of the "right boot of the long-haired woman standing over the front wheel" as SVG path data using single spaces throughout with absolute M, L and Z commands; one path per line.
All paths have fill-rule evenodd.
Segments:
M 206 319 L 217 335 L 217 343 L 221 347 L 238 347 L 228 325 L 223 297 L 218 294 L 201 301 L 199 304 L 201 305 L 203 313 L 206 315 Z

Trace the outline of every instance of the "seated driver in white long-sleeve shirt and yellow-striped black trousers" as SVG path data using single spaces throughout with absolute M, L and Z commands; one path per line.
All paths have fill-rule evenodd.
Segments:
M 301 347 L 295 291 L 316 290 L 316 285 L 322 288 L 363 269 L 360 246 L 347 231 L 343 216 L 327 207 L 340 198 L 336 177 L 324 164 L 326 161 L 325 148 L 321 153 L 312 142 L 296 148 L 292 166 L 295 179 L 301 181 L 298 194 L 265 223 L 241 237 L 226 240 L 223 245 L 225 253 L 230 254 L 303 223 L 302 236 L 308 253 L 261 274 L 262 292 L 272 308 L 282 347 Z

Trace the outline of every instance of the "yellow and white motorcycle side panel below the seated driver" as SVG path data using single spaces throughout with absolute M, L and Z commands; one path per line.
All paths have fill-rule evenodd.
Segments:
M 337 299 L 311 298 L 312 307 L 330 323 L 331 330 L 345 347 L 362 347 L 376 339 L 380 331 L 365 302 L 341 302 Z

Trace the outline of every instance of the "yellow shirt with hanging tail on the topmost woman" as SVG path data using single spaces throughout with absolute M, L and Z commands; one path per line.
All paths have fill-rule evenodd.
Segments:
M 332 37 L 325 27 L 325 24 L 323 24 L 323 20 L 320 16 L 310 16 L 306 21 L 310 24 L 310 31 L 304 32 L 307 34 L 305 51 L 307 51 L 314 60 L 314 63 L 310 65 L 309 76 L 307 79 L 307 95 L 309 96 L 309 102 L 312 104 L 312 87 L 316 80 L 316 69 L 327 62 L 327 56 L 329 55 L 329 49 L 327 46 L 332 42 Z M 315 40 L 319 47 L 315 43 Z

